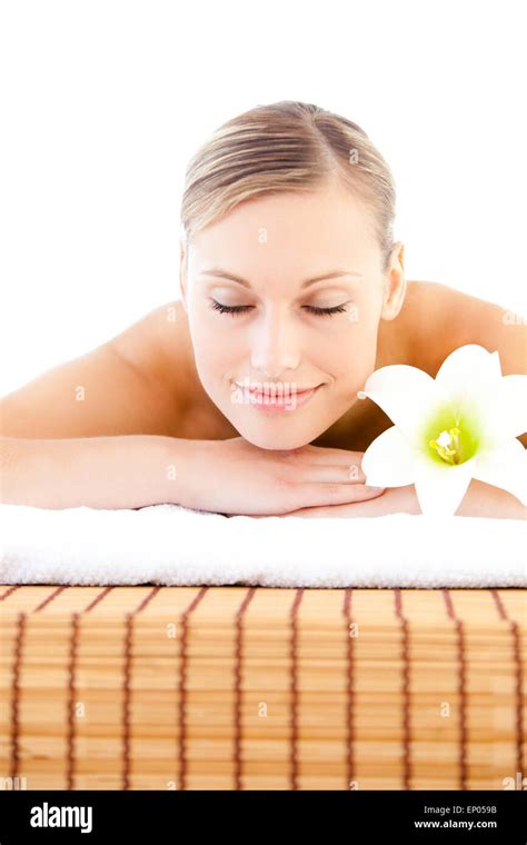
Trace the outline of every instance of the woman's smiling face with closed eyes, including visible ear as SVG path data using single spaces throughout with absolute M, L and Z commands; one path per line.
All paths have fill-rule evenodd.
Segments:
M 199 378 L 260 448 L 311 443 L 375 369 L 405 282 L 397 260 L 382 274 L 368 223 L 335 183 L 249 199 L 191 240 L 181 290 Z

